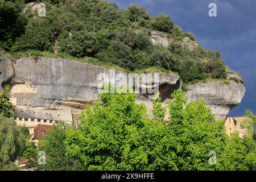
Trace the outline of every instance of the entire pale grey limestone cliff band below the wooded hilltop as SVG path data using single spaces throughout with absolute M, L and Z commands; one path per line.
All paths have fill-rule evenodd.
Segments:
M 79 117 L 85 103 L 97 100 L 98 85 L 104 76 L 109 81 L 115 80 L 117 85 L 129 85 L 131 79 L 134 85 L 139 84 L 138 90 L 146 89 L 146 93 L 138 93 L 137 103 L 146 105 L 149 117 L 152 117 L 154 95 L 148 90 L 158 87 L 162 100 L 167 101 L 175 89 L 181 88 L 180 77 L 174 73 L 159 73 L 159 80 L 148 84 L 142 76 L 135 78 L 126 72 L 63 58 L 25 57 L 13 62 L 0 53 L 0 60 L 0 90 L 10 85 L 14 105 L 71 108 L 75 118 Z M 230 109 L 240 104 L 244 94 L 245 87 L 231 81 L 229 85 L 220 82 L 191 85 L 185 96 L 189 102 L 204 99 L 218 119 L 225 119 Z

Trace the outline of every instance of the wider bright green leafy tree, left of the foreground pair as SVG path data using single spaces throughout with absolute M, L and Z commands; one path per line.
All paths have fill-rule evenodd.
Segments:
M 92 109 L 85 107 L 81 129 L 68 130 L 67 153 L 79 159 L 86 170 L 158 168 L 158 154 L 150 149 L 158 144 L 164 123 L 158 126 L 146 118 L 146 108 L 135 104 L 136 94 L 115 92 L 100 94 L 102 107 L 98 102 Z

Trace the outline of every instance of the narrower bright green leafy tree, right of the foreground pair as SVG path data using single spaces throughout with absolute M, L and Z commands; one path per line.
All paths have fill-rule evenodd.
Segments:
M 169 102 L 170 123 L 163 138 L 166 150 L 172 151 L 174 168 L 178 170 L 214 170 L 209 152 L 221 154 L 225 146 L 224 122 L 217 122 L 204 101 L 191 102 L 176 90 Z M 167 152 L 166 151 L 166 152 Z M 167 153 L 168 158 L 170 154 Z

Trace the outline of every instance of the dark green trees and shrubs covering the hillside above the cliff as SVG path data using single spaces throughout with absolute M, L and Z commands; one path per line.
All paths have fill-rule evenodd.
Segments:
M 121 10 L 105 0 L 32 2 L 0 0 L 0 49 L 86 57 L 129 72 L 158 67 L 179 73 L 184 82 L 227 76 L 220 52 L 184 47 L 184 38 L 195 41 L 193 34 L 167 15 L 152 17 L 137 5 Z M 39 2 L 46 4 L 45 17 L 34 8 Z M 152 30 L 164 32 L 170 45 L 152 44 Z

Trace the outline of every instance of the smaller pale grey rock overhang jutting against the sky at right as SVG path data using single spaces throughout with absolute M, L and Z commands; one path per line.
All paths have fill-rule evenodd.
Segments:
M 210 81 L 188 86 L 184 95 L 188 98 L 188 103 L 205 100 L 216 119 L 226 119 L 229 111 L 242 101 L 245 86 L 235 81 L 230 81 L 230 84 Z

